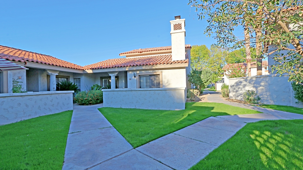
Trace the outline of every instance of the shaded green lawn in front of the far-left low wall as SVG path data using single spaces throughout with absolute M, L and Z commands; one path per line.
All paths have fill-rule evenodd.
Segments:
M 0 126 L 0 169 L 61 170 L 72 113 Z

